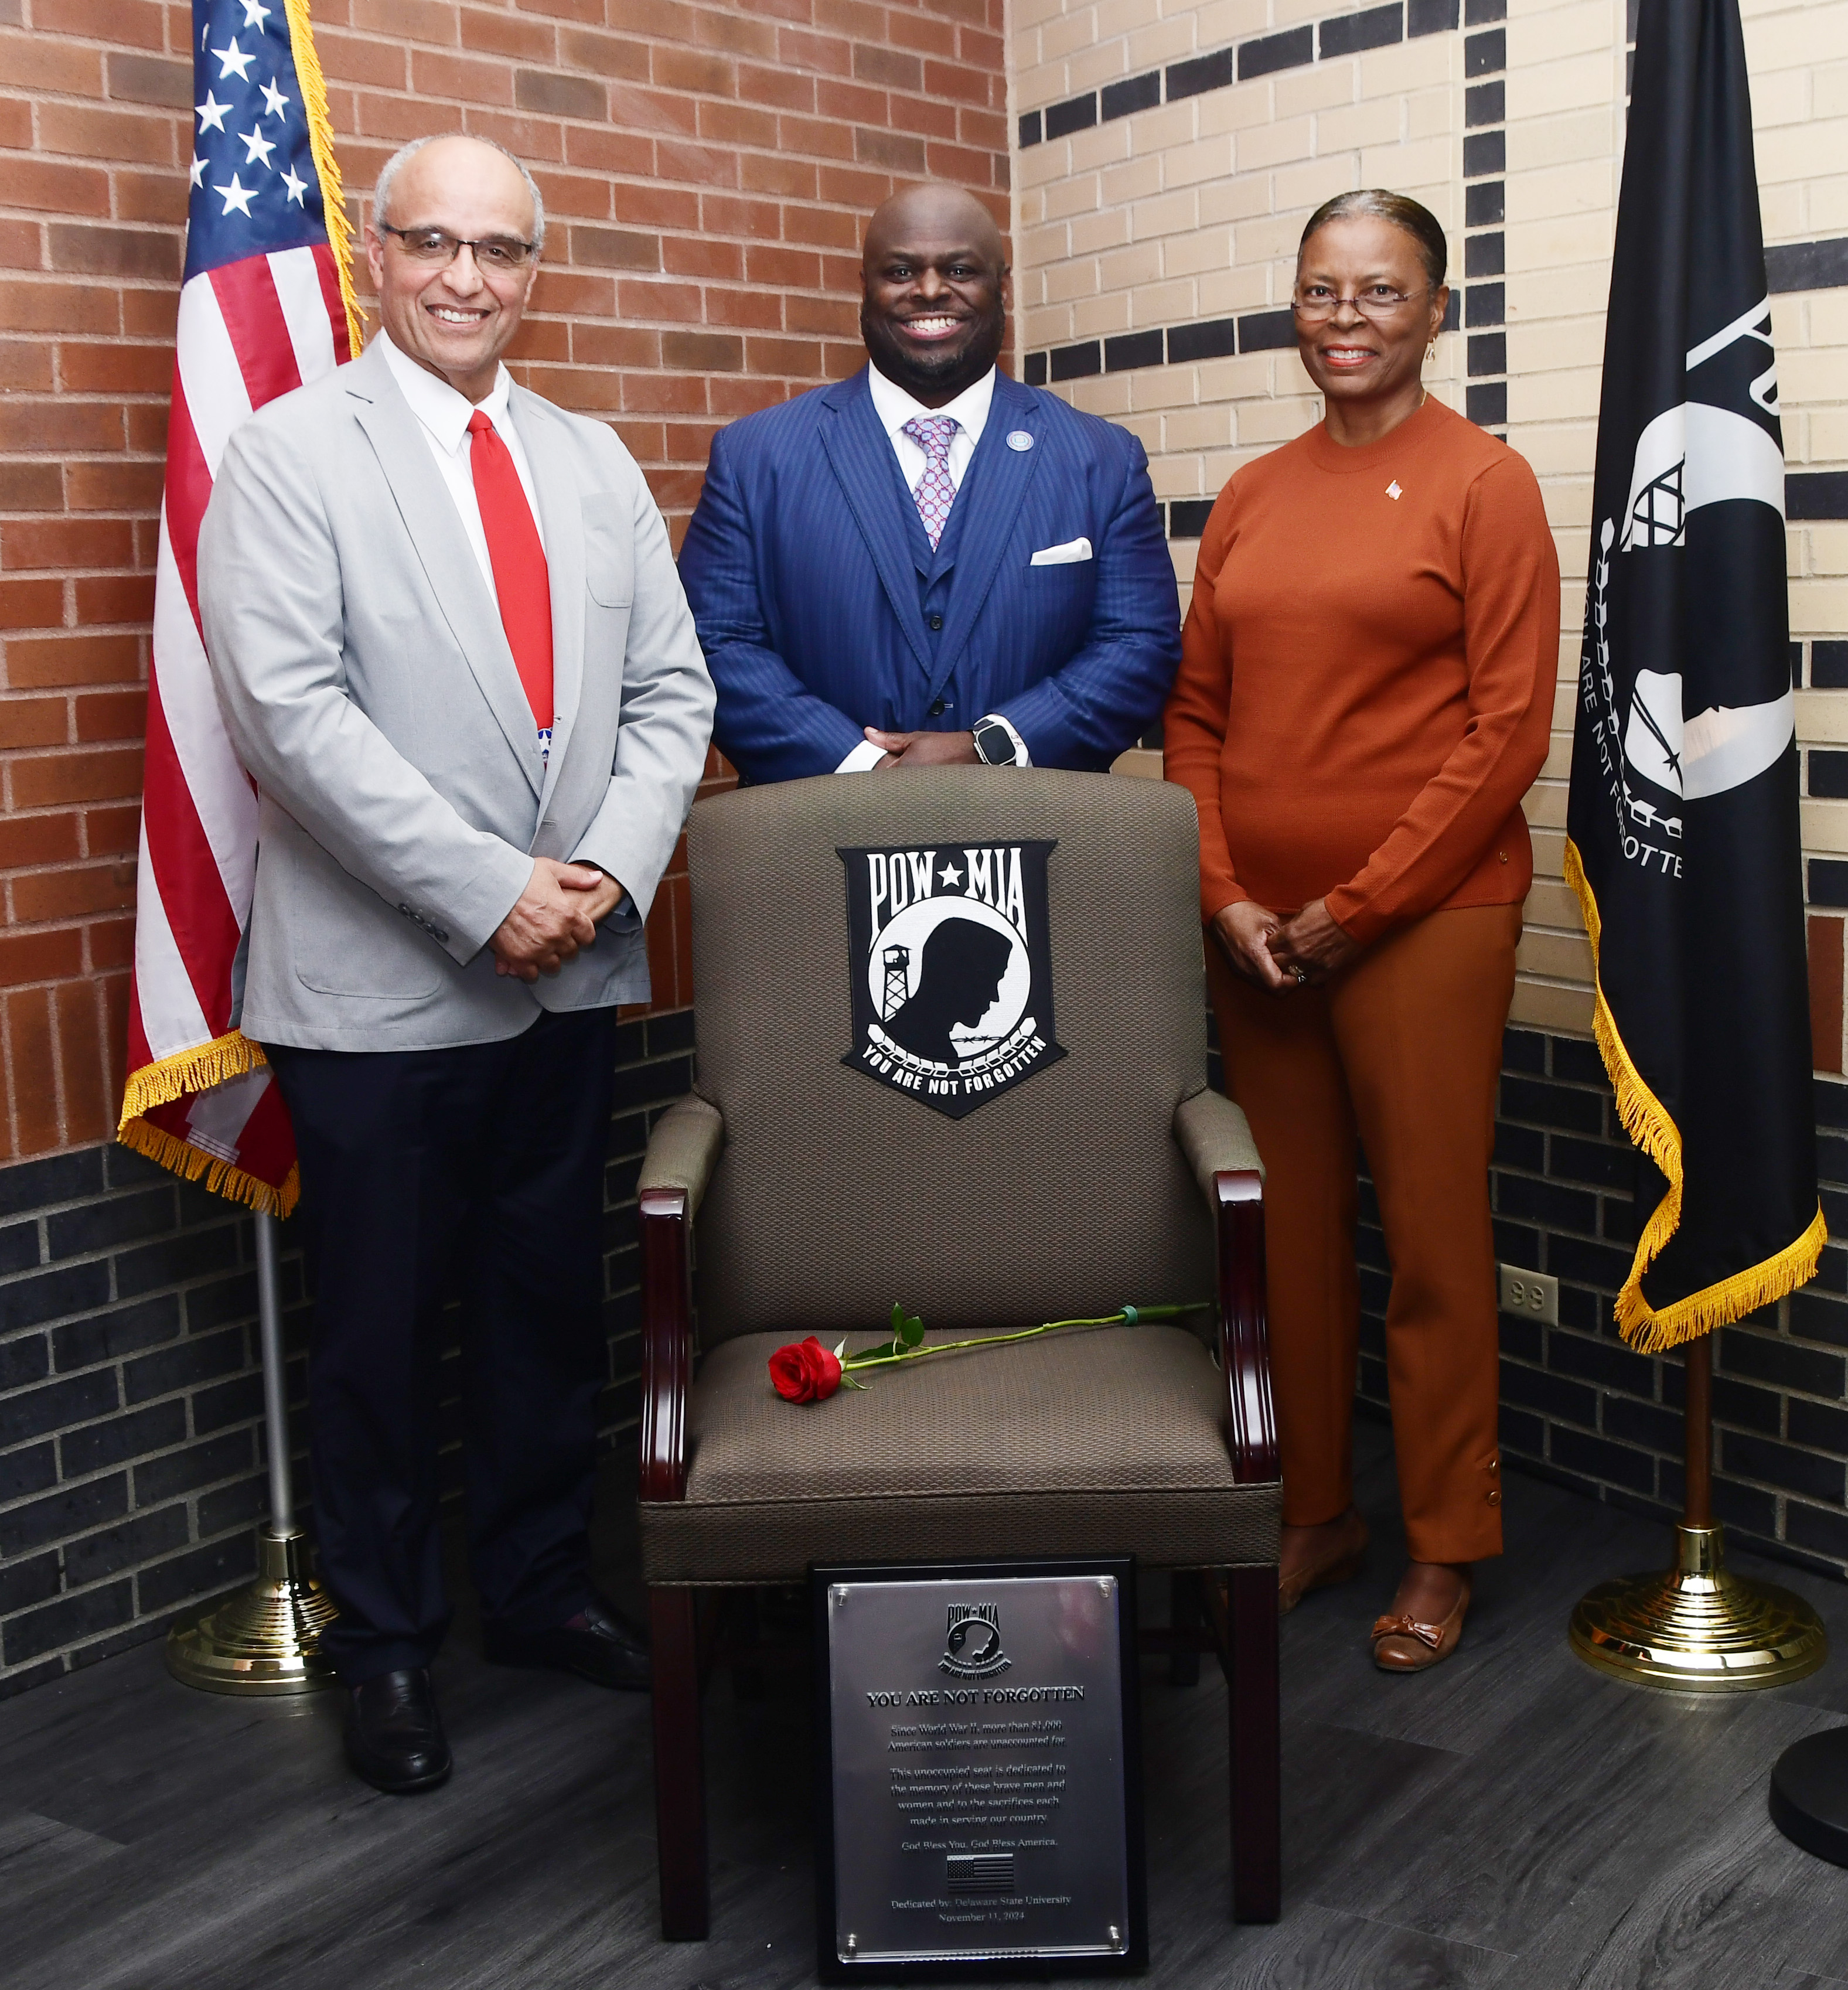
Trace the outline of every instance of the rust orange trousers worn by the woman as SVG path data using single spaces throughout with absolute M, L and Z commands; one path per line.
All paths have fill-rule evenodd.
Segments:
M 1520 905 L 1434 911 L 1285 995 L 1239 979 L 1207 933 L 1225 1089 L 1265 1162 L 1287 1526 L 1353 1504 L 1359 1136 L 1392 1262 L 1386 1385 L 1406 1546 L 1420 1562 L 1502 1552 L 1488 1162 L 1520 929 Z

